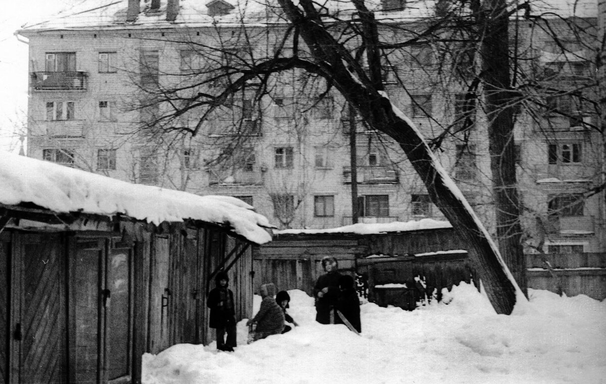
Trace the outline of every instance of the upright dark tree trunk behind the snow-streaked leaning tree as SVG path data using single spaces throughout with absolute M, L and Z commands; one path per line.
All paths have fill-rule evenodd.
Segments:
M 513 138 L 514 93 L 511 91 L 507 2 L 486 0 L 479 13 L 484 27 L 482 72 L 488 118 L 488 151 L 499 251 L 514 279 L 526 294 L 526 262 Z

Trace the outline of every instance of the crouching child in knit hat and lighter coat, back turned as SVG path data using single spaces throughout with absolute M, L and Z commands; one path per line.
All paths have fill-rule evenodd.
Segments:
M 261 308 L 259 308 L 255 317 L 246 323 L 246 325 L 256 324 L 255 336 L 252 341 L 281 334 L 282 329 L 284 329 L 284 312 L 273 298 L 276 294 L 276 286 L 273 283 L 263 284 L 259 291 L 263 298 Z

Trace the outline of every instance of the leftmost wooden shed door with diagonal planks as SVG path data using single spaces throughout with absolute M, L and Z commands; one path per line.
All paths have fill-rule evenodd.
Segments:
M 61 237 L 20 234 L 17 239 L 13 382 L 67 383 L 66 282 Z

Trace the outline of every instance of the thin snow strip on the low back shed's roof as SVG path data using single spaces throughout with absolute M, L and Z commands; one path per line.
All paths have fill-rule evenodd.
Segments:
M 274 234 L 326 234 L 326 233 L 351 233 L 351 234 L 381 234 L 391 232 L 407 232 L 419 230 L 435 230 L 439 228 L 452 228 L 447 221 L 433 219 L 411 220 L 408 222 L 395 221 L 391 223 L 357 223 L 345 225 L 345 227 L 327 228 L 324 230 L 281 230 L 273 231 Z

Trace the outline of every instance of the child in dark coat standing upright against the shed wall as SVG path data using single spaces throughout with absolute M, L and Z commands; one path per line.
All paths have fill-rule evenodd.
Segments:
M 227 273 L 219 272 L 215 277 L 216 288 L 208 293 L 207 306 L 210 308 L 208 326 L 215 328 L 217 349 L 231 352 L 236 346 L 236 311 L 228 284 Z M 224 340 L 225 333 L 227 340 Z

